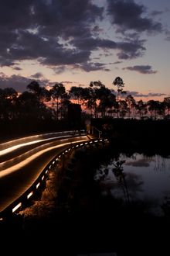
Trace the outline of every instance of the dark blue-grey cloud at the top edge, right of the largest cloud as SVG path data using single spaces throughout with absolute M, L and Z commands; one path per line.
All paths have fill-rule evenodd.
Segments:
M 134 30 L 138 33 L 160 33 L 162 23 L 155 22 L 147 16 L 144 5 L 134 0 L 107 0 L 107 14 L 111 22 L 117 28 L 117 32 L 125 33 L 127 30 Z

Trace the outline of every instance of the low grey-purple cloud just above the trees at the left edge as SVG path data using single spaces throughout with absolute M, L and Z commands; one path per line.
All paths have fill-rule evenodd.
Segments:
M 29 83 L 33 79 L 22 77 L 21 75 L 15 75 L 13 74 L 11 77 L 8 77 L 4 73 L 0 73 L 0 88 L 7 88 L 12 87 L 15 89 L 16 92 L 24 92 L 26 91 L 26 86 L 29 85 Z M 39 80 L 36 79 L 36 81 L 39 82 L 39 85 L 45 86 L 48 84 L 48 80 Z

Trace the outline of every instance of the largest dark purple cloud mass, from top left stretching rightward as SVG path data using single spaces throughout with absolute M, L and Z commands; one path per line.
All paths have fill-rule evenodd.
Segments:
M 102 29 L 97 19 L 103 19 L 103 13 L 104 8 L 91 0 L 1 2 L 0 66 L 19 70 L 16 64 L 34 60 L 61 74 L 67 66 L 87 72 L 108 71 L 102 63 L 93 64 L 91 55 L 99 49 L 109 51 L 109 55 L 116 50 L 117 57 L 124 60 L 141 57 L 145 41 L 136 36 L 119 42 L 100 38 Z

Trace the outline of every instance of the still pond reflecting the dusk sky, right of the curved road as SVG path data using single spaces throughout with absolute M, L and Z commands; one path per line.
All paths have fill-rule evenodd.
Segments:
M 94 176 L 102 195 L 124 204 L 141 203 L 145 213 L 165 216 L 170 209 L 170 156 L 120 154 L 100 165 Z

